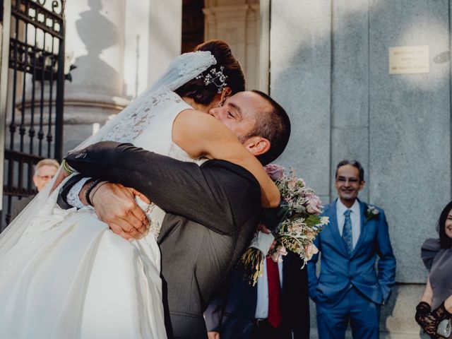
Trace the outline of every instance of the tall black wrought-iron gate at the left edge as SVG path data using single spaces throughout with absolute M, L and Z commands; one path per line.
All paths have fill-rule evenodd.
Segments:
M 9 4 L 7 4 L 9 2 Z M 35 194 L 33 165 L 61 160 L 64 107 L 64 0 L 4 0 L 9 17 L 2 203 L 9 222 L 17 198 Z M 6 19 L 3 18 L 3 19 Z M 8 21 L 3 20 L 4 25 Z M 3 44 L 5 48 L 6 44 Z M 3 107 L 0 107 L 3 109 Z M 1 228 L 1 227 L 0 227 Z

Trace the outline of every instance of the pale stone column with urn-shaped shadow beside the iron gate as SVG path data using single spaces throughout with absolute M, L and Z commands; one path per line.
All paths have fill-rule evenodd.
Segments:
M 124 0 L 66 4 L 66 54 L 77 66 L 65 84 L 64 150 L 117 114 L 124 97 Z

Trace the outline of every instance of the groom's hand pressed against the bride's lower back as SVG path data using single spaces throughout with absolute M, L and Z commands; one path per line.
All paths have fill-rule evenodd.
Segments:
M 135 196 L 150 203 L 148 198 L 135 189 L 106 183 L 95 191 L 91 202 L 97 217 L 107 223 L 114 233 L 124 239 L 139 239 L 148 230 L 149 220 L 137 205 Z

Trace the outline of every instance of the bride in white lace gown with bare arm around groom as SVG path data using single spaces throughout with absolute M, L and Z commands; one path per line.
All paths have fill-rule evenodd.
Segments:
M 213 46 L 210 45 L 208 48 L 212 49 L 212 47 L 218 47 L 218 44 L 222 44 L 222 42 L 213 42 Z M 208 44 L 206 44 L 206 46 L 208 46 Z M 201 49 L 203 48 L 207 47 L 201 47 Z M 208 64 L 208 67 L 201 71 L 204 76 L 201 78 L 196 78 L 195 76 L 191 78 L 191 80 L 187 83 L 189 84 L 191 82 L 191 85 L 186 88 L 185 92 L 183 91 L 184 86 L 181 86 L 178 90 L 176 90 L 179 95 L 184 96 L 184 100 L 190 102 L 192 105 L 196 105 L 196 109 L 198 109 L 198 111 L 189 113 L 193 113 L 197 119 L 205 121 L 206 131 L 208 131 L 208 133 L 207 135 L 203 133 L 191 133 L 190 144 L 186 149 L 184 149 L 183 146 L 184 141 L 178 143 L 178 141 L 184 140 L 184 138 L 179 139 L 177 133 L 174 135 L 174 131 L 172 132 L 172 139 L 174 143 L 179 144 L 179 146 L 182 145 L 182 149 L 188 153 L 188 156 L 186 155 L 187 161 L 190 161 L 189 157 L 215 157 L 235 162 L 238 165 L 242 165 L 246 169 L 249 169 L 249 171 L 255 175 L 256 179 L 258 179 L 261 184 L 263 206 L 275 206 L 279 202 L 279 192 L 273 185 L 273 182 L 270 181 L 265 171 L 263 171 L 261 164 L 255 157 L 251 156 L 242 144 L 239 143 L 237 137 L 227 130 L 225 126 L 220 124 L 219 121 L 208 116 L 208 114 L 201 114 L 201 112 L 208 112 L 208 109 L 220 104 L 227 95 L 232 93 L 232 89 L 227 88 L 224 82 L 208 83 L 205 81 L 206 73 L 210 73 L 212 69 L 214 69 L 214 71 L 218 71 L 221 66 L 225 67 L 224 73 L 230 77 L 230 80 L 232 81 L 233 75 L 231 76 L 227 73 L 228 66 L 231 66 L 231 64 L 227 64 L 227 62 L 231 63 L 231 60 L 234 61 L 232 55 L 230 55 L 229 47 L 225 50 L 224 46 L 220 46 L 217 52 L 210 52 L 212 52 L 218 60 L 214 60 L 213 62 L 209 61 L 210 64 Z M 226 64 L 222 65 L 220 60 L 222 54 L 224 53 L 228 54 L 230 59 L 226 59 Z M 235 61 L 235 63 L 237 63 L 237 61 Z M 179 64 L 182 64 L 182 69 L 186 66 L 184 61 L 179 62 Z M 179 72 L 181 71 L 180 67 L 177 69 Z M 242 73 L 241 70 L 239 73 Z M 198 74 L 196 74 L 196 76 L 198 76 Z M 236 90 L 234 89 L 234 91 Z M 188 105 L 184 106 L 184 104 L 177 99 L 177 95 L 169 93 L 169 91 L 165 90 L 165 88 L 163 88 L 162 92 L 163 96 L 160 94 L 154 95 L 151 97 L 153 100 L 150 100 L 150 102 L 143 102 L 143 100 L 139 100 L 140 98 L 138 98 L 138 100 L 133 102 L 131 107 L 129 107 L 129 112 L 131 109 L 138 109 L 138 111 L 141 109 L 141 111 L 147 112 L 149 110 L 148 105 L 151 104 L 154 105 L 157 110 L 162 112 L 165 112 L 165 109 L 169 109 L 169 111 L 172 112 L 172 116 L 163 118 L 162 124 L 164 127 L 172 126 L 172 121 L 175 119 L 184 119 L 184 116 L 189 115 L 189 113 L 185 111 L 190 110 L 191 107 L 188 107 Z M 157 90 L 157 93 L 160 93 L 159 90 Z M 210 100 L 207 101 L 208 99 L 206 99 L 206 97 L 208 98 L 209 96 Z M 157 100 L 155 100 L 156 98 Z M 163 99 L 160 100 L 161 98 Z M 206 102 L 200 102 L 202 99 L 206 100 Z M 169 102 L 168 105 L 167 102 Z M 172 110 L 173 107 L 180 110 L 174 112 L 174 110 Z M 150 113 L 152 112 L 151 107 Z M 159 117 L 163 116 L 164 114 L 159 115 Z M 160 126 L 159 121 L 157 121 L 157 127 L 152 124 L 146 124 L 148 122 L 146 119 L 153 119 L 152 117 L 143 115 L 143 119 L 133 121 L 133 124 L 131 125 L 134 128 L 133 132 L 137 129 L 138 133 L 132 136 L 129 133 L 132 130 L 125 129 L 126 132 L 123 133 L 124 126 L 126 126 L 129 121 L 124 119 L 121 120 L 121 114 L 119 114 L 118 118 L 119 119 L 114 121 L 113 126 L 112 124 L 108 125 L 109 127 L 106 133 L 100 133 L 100 138 L 94 138 L 94 141 L 113 140 L 131 142 L 150 150 L 153 150 L 151 147 L 153 145 L 150 145 L 150 143 L 155 144 L 156 142 L 162 141 L 158 138 L 150 138 L 150 132 L 158 129 Z M 126 118 L 130 119 L 129 116 L 126 116 Z M 164 128 L 162 127 L 160 129 Z M 171 138 L 171 131 L 166 130 L 164 132 L 166 133 L 165 136 L 169 133 L 169 138 Z M 196 139 L 197 134 L 200 138 L 203 138 L 202 141 Z M 209 138 L 206 139 L 209 135 L 212 137 L 215 136 L 215 138 L 212 138 L 213 140 L 210 140 Z M 196 143 L 198 143 L 198 148 L 196 148 Z M 215 147 L 215 145 L 217 147 Z M 160 147 L 161 145 L 157 146 Z M 211 148 L 211 151 L 209 148 Z M 180 152 L 178 153 L 176 151 L 176 153 L 178 157 L 184 156 Z M 168 153 L 167 155 L 172 156 L 173 154 Z M 52 201 L 50 204 L 51 203 Z M 149 218 L 152 218 L 152 215 L 150 215 Z M 53 219 L 57 220 L 57 218 Z M 109 248 L 102 243 L 102 240 L 105 237 L 117 236 L 112 235 L 112 232 L 104 232 L 106 230 L 106 225 L 102 224 L 102 222 L 99 222 L 95 218 L 95 214 L 92 210 L 82 209 L 67 216 L 64 215 L 62 217 L 62 221 L 58 220 L 56 223 L 55 221 L 47 222 L 47 220 L 38 220 L 35 225 L 25 229 L 25 232 L 23 232 L 17 242 L 18 246 L 13 244 L 11 247 L 8 244 L 8 246 L 4 247 L 6 248 L 3 252 L 5 256 L 2 256 L 0 259 L 3 261 L 0 261 L 0 267 L 2 263 L 6 264 L 6 262 L 10 260 L 11 265 L 6 265 L 10 266 L 8 268 L 9 271 L 4 270 L 5 274 L 3 274 L 3 277 L 0 276 L 0 290 L 5 292 L 5 298 L 3 299 L 5 300 L 4 304 L 6 304 L 6 309 L 11 311 L 11 314 L 6 312 L 1 314 L 0 321 L 1 318 L 4 318 L 4 323 L 1 326 L 8 324 L 8 319 L 17 319 L 17 321 L 13 321 L 13 323 L 9 322 L 11 324 L 7 325 L 7 331 L 2 331 L 2 333 L 14 333 L 15 338 L 28 338 L 30 333 L 33 333 L 33 338 L 62 338 L 59 337 L 58 333 L 65 333 L 64 338 L 96 338 L 96 335 L 107 335 L 107 333 L 102 332 L 102 330 L 107 330 L 107 328 L 97 328 L 96 325 L 98 323 L 93 319 L 87 319 L 85 316 L 85 312 L 86 314 L 92 314 L 94 316 L 97 314 L 95 308 L 96 305 L 93 304 L 92 299 L 88 297 L 95 296 L 96 292 L 102 292 L 102 284 L 97 282 L 96 285 L 92 282 L 92 276 L 95 274 L 95 271 L 90 272 L 90 267 L 93 260 L 97 261 L 97 259 L 99 259 L 100 254 L 103 253 L 105 255 L 105 249 L 112 251 L 123 251 L 121 255 L 124 256 L 124 253 L 127 251 L 136 251 L 136 248 L 132 247 L 138 246 L 138 249 L 145 248 L 145 250 L 141 250 L 141 257 L 139 258 L 139 264 L 141 266 L 134 268 L 136 271 L 126 271 L 125 274 L 130 276 L 131 283 L 128 285 L 129 288 L 132 290 L 134 288 L 138 288 L 138 295 L 146 295 L 147 304 L 145 304 L 145 311 L 143 311 L 143 300 L 140 300 L 138 305 L 133 304 L 133 302 L 136 302 L 133 300 L 121 300 L 120 304 L 123 311 L 124 305 L 126 305 L 126 307 L 129 307 L 131 311 L 135 312 L 131 314 L 131 321 L 129 323 L 126 322 L 126 326 L 129 326 L 129 330 L 131 331 L 131 336 L 129 338 L 165 338 L 166 334 L 165 327 L 162 323 L 161 300 L 159 299 L 161 295 L 161 282 L 160 276 L 158 275 L 158 270 L 160 270 L 160 254 L 158 252 L 157 244 L 155 243 L 155 234 L 148 234 L 143 237 L 143 239 L 138 240 L 133 244 L 121 240 L 123 242 L 121 243 L 121 248 Z M 14 227 L 14 225 L 12 226 Z M 89 234 L 78 234 L 82 232 L 82 230 L 83 232 L 88 232 Z M 96 238 L 95 245 L 86 245 L 86 250 L 81 252 L 83 257 L 76 256 L 71 253 L 72 250 L 79 250 L 80 246 L 85 246 L 86 239 L 94 239 L 95 237 L 101 237 L 102 239 L 98 242 L 98 239 Z M 4 238 L 2 238 L 2 240 L 3 239 Z M 114 241 L 117 241 L 117 238 L 114 239 Z M 28 242 L 30 243 L 28 244 Z M 27 252 L 28 250 L 24 249 L 26 247 L 24 246 L 25 243 L 28 244 L 28 247 L 38 247 L 37 249 L 33 249 L 33 254 L 30 255 Z M 0 241 L 0 245 L 1 244 L 2 242 Z M 75 246 L 78 247 L 74 248 Z M 66 249 L 63 252 L 64 256 L 62 258 L 64 259 L 64 263 L 59 262 L 61 257 L 57 257 L 55 254 L 52 256 L 52 251 L 54 251 L 55 248 Z M 25 256 L 25 258 L 20 257 L 18 254 L 19 252 L 21 253 L 20 250 L 25 251 L 25 255 L 21 254 L 22 256 Z M 93 252 L 95 253 L 94 257 Z M 90 256 L 88 256 L 88 254 L 90 254 Z M 30 255 L 30 257 L 27 255 Z M 133 258 L 133 256 L 131 257 Z M 13 258 L 15 258 L 14 260 L 16 261 L 13 261 Z M 69 260 L 70 258 L 75 260 L 74 262 L 76 265 L 79 264 L 79 266 L 72 268 L 74 264 L 71 260 Z M 148 260 L 148 258 L 151 260 Z M 77 260 L 82 260 L 83 262 L 78 263 Z M 85 261 L 87 262 L 85 263 Z M 130 263 L 124 265 L 124 267 L 126 266 L 133 267 Z M 61 274 L 61 270 L 58 270 L 57 267 L 61 267 L 61 269 L 64 270 L 64 275 Z M 36 278 L 37 275 L 40 276 L 41 280 Z M 136 278 L 135 275 L 139 275 L 139 279 L 134 285 L 133 282 Z M 11 280 L 8 280 L 8 277 Z M 17 288 L 13 287 L 13 284 L 16 284 Z M 138 287 L 136 285 L 138 285 Z M 32 295 L 20 293 L 22 291 L 29 292 L 31 289 L 33 291 Z M 9 293 L 6 293 L 6 291 L 9 291 Z M 48 298 L 43 298 L 46 295 Z M 61 296 L 64 297 L 64 300 L 61 300 Z M 35 303 L 43 303 L 40 304 L 41 308 L 35 307 L 33 302 L 34 297 L 37 297 L 37 301 L 35 301 Z M 116 295 L 111 297 L 118 298 Z M 43 301 L 42 299 L 47 300 Z M 144 300 L 144 302 L 146 302 L 146 300 Z M 54 307 L 55 304 L 57 307 Z M 75 307 L 73 305 L 75 305 Z M 49 307 L 49 309 L 46 310 L 45 321 L 42 319 L 35 319 L 36 317 L 32 316 L 33 314 L 36 316 L 42 314 L 42 307 L 44 307 L 44 309 Z M 87 307 L 89 308 L 88 311 Z M 133 309 L 134 307 L 139 307 L 140 309 Z M 56 315 L 52 316 L 52 312 Z M 22 314 L 21 318 L 20 314 Z M 24 314 L 25 316 L 23 316 Z M 138 321 L 133 319 L 133 315 L 138 317 Z M 97 317 L 99 316 L 100 315 Z M 70 326 L 69 323 L 67 323 L 68 319 L 71 319 Z M 98 319 L 97 321 L 101 320 L 102 319 Z M 21 325 L 25 324 L 25 328 L 24 326 L 16 326 L 15 324 L 17 322 Z M 108 328 L 109 338 L 116 338 L 114 336 L 116 334 L 115 330 L 124 331 L 124 323 L 121 323 L 121 328 L 119 327 L 119 323 L 112 321 L 112 324 L 115 326 Z M 4 330 L 4 328 L 2 328 L 2 330 Z M 97 331 L 97 334 L 94 334 L 93 331 Z M 72 333 L 73 336 L 71 336 Z

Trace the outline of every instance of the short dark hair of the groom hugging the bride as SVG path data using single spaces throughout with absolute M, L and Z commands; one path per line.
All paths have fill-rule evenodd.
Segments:
M 254 129 L 243 139 L 246 140 L 247 138 L 251 138 L 251 136 L 261 136 L 270 141 L 268 152 L 257 156 L 262 165 L 267 165 L 279 157 L 285 150 L 285 146 L 287 146 L 290 137 L 290 119 L 285 109 L 269 95 L 266 95 L 266 93 L 260 90 L 251 90 L 251 92 L 267 100 L 272 109 L 270 112 L 256 112 Z

